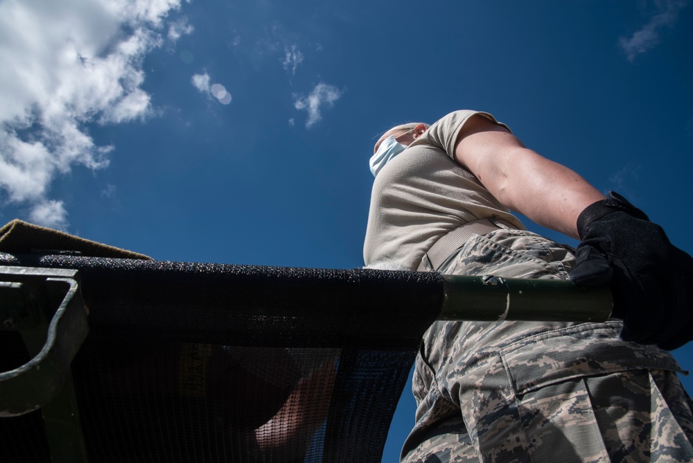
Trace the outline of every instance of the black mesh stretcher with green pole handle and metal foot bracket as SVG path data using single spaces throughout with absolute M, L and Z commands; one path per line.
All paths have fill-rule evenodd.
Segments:
M 13 462 L 379 462 L 435 320 L 611 311 L 565 281 L 20 250 L 0 252 Z

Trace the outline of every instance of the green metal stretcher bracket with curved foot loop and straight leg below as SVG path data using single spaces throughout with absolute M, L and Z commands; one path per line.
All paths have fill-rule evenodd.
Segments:
M 87 337 L 77 270 L 0 266 L 0 331 L 19 331 L 31 359 L 0 372 L 0 417 L 41 409 L 54 463 L 85 463 L 70 364 Z

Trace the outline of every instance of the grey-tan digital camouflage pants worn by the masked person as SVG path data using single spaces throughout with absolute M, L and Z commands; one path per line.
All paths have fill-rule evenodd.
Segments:
M 573 263 L 557 243 L 501 229 L 438 270 L 565 279 Z M 402 461 L 693 461 L 680 367 L 619 331 L 616 321 L 436 322 L 416 359 L 416 425 Z

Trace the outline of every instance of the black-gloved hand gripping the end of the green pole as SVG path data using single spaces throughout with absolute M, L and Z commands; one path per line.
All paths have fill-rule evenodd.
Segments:
M 670 350 L 693 339 L 693 258 L 662 227 L 611 192 L 582 211 L 577 229 L 582 243 L 570 279 L 611 283 L 623 340 Z

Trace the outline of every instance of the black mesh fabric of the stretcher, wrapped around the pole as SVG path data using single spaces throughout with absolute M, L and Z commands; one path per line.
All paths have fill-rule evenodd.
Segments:
M 379 462 L 443 297 L 439 275 L 417 272 L 0 264 L 80 270 L 90 331 L 72 372 L 90 462 Z M 20 420 L 43 441 L 11 461 L 49 461 L 36 412 L 0 419 L 3 442 L 26 439 Z

